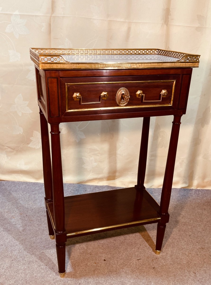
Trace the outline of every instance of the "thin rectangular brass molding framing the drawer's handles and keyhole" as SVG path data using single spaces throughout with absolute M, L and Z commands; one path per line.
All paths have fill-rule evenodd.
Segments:
M 133 105 L 133 106 L 117 106 L 117 107 L 98 107 L 98 108 L 84 108 L 84 109 L 68 109 L 68 86 L 70 85 L 89 85 L 89 84 L 125 84 L 125 83 L 157 83 L 157 82 L 173 82 L 171 102 L 170 104 L 146 104 L 146 105 Z M 66 112 L 80 112 L 80 111 L 96 111 L 96 110 L 111 110 L 111 109 L 132 109 L 132 108 L 146 108 L 146 107 L 167 107 L 172 106 L 175 91 L 175 80 L 146 80 L 146 81 L 116 81 L 116 82 L 77 82 L 65 83 L 66 91 Z

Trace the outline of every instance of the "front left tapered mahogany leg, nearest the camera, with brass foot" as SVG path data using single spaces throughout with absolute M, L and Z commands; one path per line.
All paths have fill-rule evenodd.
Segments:
M 65 272 L 65 209 L 61 163 L 61 146 L 59 124 L 51 124 L 51 152 L 53 174 L 53 212 L 55 223 L 55 239 L 59 273 Z

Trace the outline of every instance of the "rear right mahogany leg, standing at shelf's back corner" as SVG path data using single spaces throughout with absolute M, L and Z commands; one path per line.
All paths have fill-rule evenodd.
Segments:
M 150 128 L 150 117 L 143 118 L 142 134 L 141 134 L 141 146 L 138 161 L 138 177 L 136 189 L 145 189 L 144 179 L 146 173 L 146 158 L 148 149 L 148 138 L 149 138 L 149 128 Z

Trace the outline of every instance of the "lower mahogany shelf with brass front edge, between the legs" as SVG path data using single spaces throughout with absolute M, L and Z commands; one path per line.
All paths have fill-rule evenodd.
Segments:
M 65 230 L 67 238 L 157 223 L 159 205 L 146 190 L 135 187 L 67 196 Z M 47 202 L 53 229 L 53 202 Z

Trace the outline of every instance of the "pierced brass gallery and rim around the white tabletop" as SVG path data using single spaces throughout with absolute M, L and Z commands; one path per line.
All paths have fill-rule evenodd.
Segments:
M 176 58 L 166 62 L 69 62 L 67 55 L 158 55 Z M 40 69 L 122 69 L 122 68 L 168 68 L 198 67 L 200 55 L 162 49 L 67 49 L 67 48 L 30 48 L 30 58 Z

